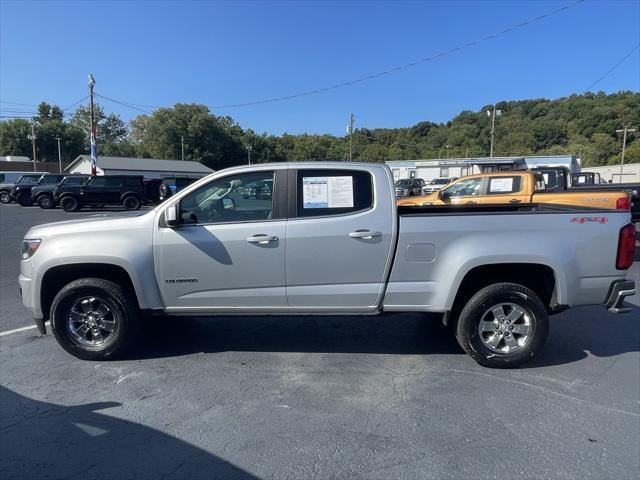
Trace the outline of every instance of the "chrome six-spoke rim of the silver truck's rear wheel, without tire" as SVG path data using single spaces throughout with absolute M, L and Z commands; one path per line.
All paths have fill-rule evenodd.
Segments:
M 488 308 L 480 319 L 482 343 L 496 353 L 513 353 L 531 339 L 533 314 L 515 303 L 499 303 Z

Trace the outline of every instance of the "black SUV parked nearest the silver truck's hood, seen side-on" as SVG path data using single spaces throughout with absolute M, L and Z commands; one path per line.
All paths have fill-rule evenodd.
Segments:
M 137 210 L 146 201 L 142 176 L 105 175 L 90 177 L 82 185 L 59 185 L 53 198 L 65 212 L 75 212 L 86 205 L 122 205 Z

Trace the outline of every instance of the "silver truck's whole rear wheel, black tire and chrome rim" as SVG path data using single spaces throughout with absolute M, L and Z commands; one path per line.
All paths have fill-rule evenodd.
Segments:
M 496 283 L 464 306 L 456 338 L 480 365 L 515 368 L 540 351 L 548 332 L 549 317 L 535 292 L 515 283 Z

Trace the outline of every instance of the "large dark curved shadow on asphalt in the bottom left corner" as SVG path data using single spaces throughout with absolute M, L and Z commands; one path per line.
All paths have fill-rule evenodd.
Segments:
M 158 430 L 0 387 L 0 478 L 233 478 L 253 475 Z

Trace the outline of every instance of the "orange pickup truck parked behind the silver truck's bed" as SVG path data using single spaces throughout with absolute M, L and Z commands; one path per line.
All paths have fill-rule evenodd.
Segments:
M 556 203 L 629 210 L 627 192 L 561 191 L 545 193 L 544 177 L 530 171 L 481 173 L 460 178 L 430 195 L 398 200 L 407 205 L 469 205 L 476 203 Z

